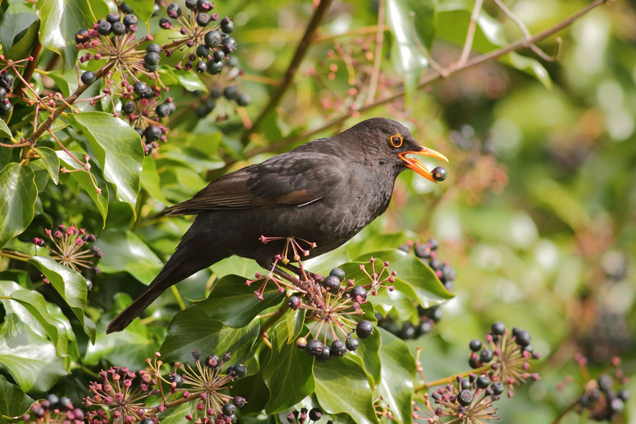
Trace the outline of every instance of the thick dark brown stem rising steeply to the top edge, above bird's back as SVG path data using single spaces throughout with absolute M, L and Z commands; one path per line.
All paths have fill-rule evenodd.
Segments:
M 291 59 L 289 67 L 287 67 L 287 71 L 280 81 L 279 87 L 277 87 L 276 90 L 273 92 L 272 97 L 270 97 L 270 101 L 268 102 L 268 104 L 266 104 L 265 108 L 263 108 L 261 114 L 258 115 L 258 118 L 254 120 L 252 126 L 245 129 L 242 137 L 242 141 L 244 143 L 249 140 L 250 134 L 252 134 L 252 132 L 258 127 L 258 125 L 263 122 L 263 118 L 265 118 L 266 115 L 270 113 L 270 111 L 278 106 L 283 94 L 285 94 L 287 88 L 289 88 L 289 85 L 291 85 L 291 81 L 294 79 L 294 74 L 296 74 L 296 70 L 298 70 L 300 62 L 305 57 L 305 54 L 307 54 L 307 50 L 312 43 L 312 38 L 314 37 L 314 33 L 316 29 L 318 29 L 318 25 L 320 25 L 322 18 L 329 9 L 331 1 L 332 0 L 321 0 L 321 2 L 318 4 L 318 7 L 315 9 L 314 15 L 312 16 L 312 19 L 307 25 L 307 29 L 305 29 L 305 35 L 303 35 L 300 43 L 298 43 L 296 52 L 294 53 L 294 57 Z

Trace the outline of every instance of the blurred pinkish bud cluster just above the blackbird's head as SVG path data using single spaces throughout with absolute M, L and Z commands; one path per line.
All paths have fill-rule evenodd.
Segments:
M 324 113 L 350 113 L 356 117 L 357 111 L 370 93 L 375 59 L 375 36 L 352 38 L 347 41 L 334 41 L 333 48 L 328 50 L 326 59 L 317 66 L 303 71 L 313 78 L 321 88 L 321 106 Z M 331 83 L 336 79 L 336 73 L 345 69 L 348 87 L 342 90 L 340 86 Z M 374 95 L 388 95 L 400 84 L 399 78 L 391 78 L 384 71 L 377 70 L 377 84 Z M 389 103 L 392 115 L 404 115 L 403 101 L 396 100 Z M 395 112 L 395 113 L 394 113 Z

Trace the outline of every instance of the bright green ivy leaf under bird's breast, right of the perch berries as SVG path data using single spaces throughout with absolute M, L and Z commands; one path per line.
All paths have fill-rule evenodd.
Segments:
M 342 269 L 347 273 L 347 278 L 356 279 L 358 284 L 362 281 L 368 283 L 368 277 L 360 270 L 360 265 L 365 265 L 367 271 L 371 272 L 369 271 L 371 269 L 370 257 L 377 259 L 375 266 L 378 271 L 382 267 L 382 262 L 388 260 L 389 271 L 397 272 L 396 281 L 393 283 L 396 290 L 417 299 L 422 307 L 438 305 L 454 296 L 453 293 L 446 290 L 429 265 L 424 264 L 420 258 L 399 249 L 367 253 L 356 258 L 353 262 L 343 264 Z M 374 302 L 375 298 L 369 296 L 368 300 Z

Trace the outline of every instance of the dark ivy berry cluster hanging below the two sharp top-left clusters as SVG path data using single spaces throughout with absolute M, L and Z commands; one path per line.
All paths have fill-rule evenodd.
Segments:
M 152 46 L 152 45 L 151 45 Z M 137 81 L 133 85 L 136 99 L 125 102 L 121 105 L 121 113 L 128 117 L 128 122 L 142 139 L 144 152 L 146 154 L 159 148 L 157 141 L 167 141 L 166 134 L 168 127 L 161 124 L 162 118 L 169 117 L 177 108 L 172 102 L 172 97 L 168 97 L 163 103 L 159 102 L 160 93 L 149 90 L 148 85 L 142 81 Z M 144 93 L 148 93 L 146 95 Z

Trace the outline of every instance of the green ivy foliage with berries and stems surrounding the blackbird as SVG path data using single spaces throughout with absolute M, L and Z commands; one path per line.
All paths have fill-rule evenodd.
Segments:
M 633 421 L 633 22 L 0 0 L 0 424 Z M 443 152 L 443 182 L 403 173 L 322 257 L 288 241 L 298 278 L 230 257 L 105 334 L 191 223 L 163 209 L 374 116 Z

